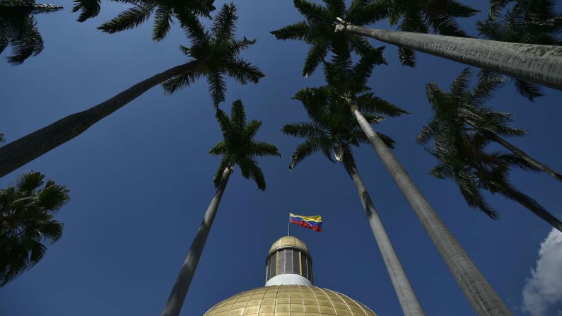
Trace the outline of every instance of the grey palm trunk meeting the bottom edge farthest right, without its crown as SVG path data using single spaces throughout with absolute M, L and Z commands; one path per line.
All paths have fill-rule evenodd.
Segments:
M 505 303 L 503 303 L 496 291 L 493 290 L 476 265 L 474 265 L 467 252 L 464 252 L 459 242 L 457 242 L 438 214 L 435 213 L 435 210 L 433 210 L 433 207 L 431 207 L 426 198 L 419 192 L 414 181 L 411 180 L 406 170 L 404 170 L 390 149 L 387 148 L 382 139 L 373 130 L 373 127 L 370 126 L 355 106 L 351 105 L 351 110 L 368 137 L 370 144 L 375 148 L 380 160 L 382 160 L 382 163 L 390 172 L 392 179 L 396 182 L 412 209 L 414 209 L 423 228 L 426 229 L 452 275 L 455 276 L 457 283 L 459 283 L 464 295 L 467 296 L 472 304 L 476 314 L 479 316 L 511 315 L 508 307 L 505 306 Z

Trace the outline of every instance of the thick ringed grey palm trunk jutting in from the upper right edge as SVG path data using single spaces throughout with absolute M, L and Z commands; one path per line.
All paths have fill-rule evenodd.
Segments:
M 336 30 L 562 90 L 562 47 L 338 25 Z

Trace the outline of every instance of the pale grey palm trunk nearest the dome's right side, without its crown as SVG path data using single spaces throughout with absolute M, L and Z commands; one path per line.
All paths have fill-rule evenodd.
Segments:
M 402 264 L 398 259 L 396 252 L 394 252 L 394 247 L 388 238 L 385 227 L 382 226 L 382 221 L 377 214 L 377 210 L 373 205 L 373 201 L 370 199 L 369 192 L 361 180 L 356 168 L 350 168 L 349 175 L 355 183 L 357 188 L 357 193 L 359 194 L 359 199 L 361 199 L 361 204 L 363 204 L 363 209 L 365 210 L 365 215 L 369 221 L 370 229 L 373 230 L 373 235 L 375 235 L 375 240 L 379 246 L 380 254 L 382 259 L 385 261 L 385 266 L 387 267 L 388 274 L 390 275 L 390 280 L 392 281 L 392 286 L 394 286 L 394 291 L 398 296 L 400 306 L 404 311 L 405 316 L 424 316 L 426 315 L 421 308 L 421 305 L 414 293 L 414 288 L 411 287 L 410 281 L 406 276 L 406 272 L 402 269 Z

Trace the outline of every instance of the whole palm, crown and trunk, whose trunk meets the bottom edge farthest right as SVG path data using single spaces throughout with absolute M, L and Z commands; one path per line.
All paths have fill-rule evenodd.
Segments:
M 361 113 L 358 105 L 358 93 L 368 88 L 365 86 L 367 78 L 373 70 L 373 61 L 363 57 L 356 66 L 349 67 L 349 61 L 333 59 L 333 64 L 324 66 L 326 80 L 334 93 L 346 100 L 351 112 L 363 129 L 365 136 L 373 146 L 382 163 L 387 168 L 392 179 L 406 197 L 412 209 L 418 216 L 423 228 L 433 240 L 441 256 L 445 260 L 460 288 L 467 295 L 472 308 L 477 315 L 511 315 L 505 303 L 481 274 L 474 262 L 464 252 L 461 245 L 450 233 L 433 207 L 429 204 L 418 187 L 409 177 L 402 164 L 392 154 L 382 138 L 370 126 L 368 119 Z

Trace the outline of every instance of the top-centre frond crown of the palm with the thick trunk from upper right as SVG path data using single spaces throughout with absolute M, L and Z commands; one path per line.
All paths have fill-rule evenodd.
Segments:
M 355 0 L 349 8 L 346 8 L 344 0 L 324 0 L 325 8 L 307 0 L 293 2 L 305 20 L 274 30 L 271 34 L 279 40 L 303 40 L 311 45 L 303 76 L 312 74 L 330 51 L 346 57 L 351 51 L 363 55 L 375 49 L 359 35 L 333 32 L 334 20 L 338 16 L 345 16 L 356 25 L 367 25 L 380 19 L 377 11 L 372 10 L 373 6 L 363 6 L 366 0 Z

